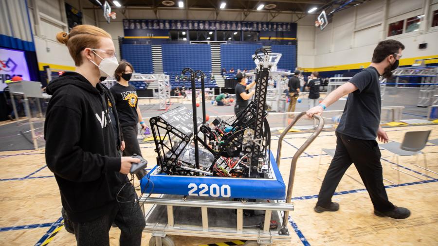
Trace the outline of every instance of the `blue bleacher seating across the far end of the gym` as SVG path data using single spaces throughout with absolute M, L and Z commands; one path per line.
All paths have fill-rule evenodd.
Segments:
M 221 69 L 226 72 L 215 74 L 224 79 L 235 79 L 237 70 L 253 70 L 255 63 L 252 55 L 256 49 L 262 48 L 261 44 L 221 44 Z M 296 67 L 296 46 L 295 45 L 272 45 L 273 53 L 282 53 L 278 63 L 279 69 L 293 71 Z M 205 87 L 218 87 L 216 81 L 211 79 L 211 50 L 208 44 L 162 44 L 163 70 L 169 75 L 172 88 L 185 86 L 191 87 L 187 78 L 186 81 L 176 79 L 181 75 L 184 68 L 202 70 L 205 74 Z M 122 44 L 122 57 L 134 66 L 134 70 L 140 73 L 153 73 L 152 50 L 149 44 Z M 234 72 L 230 72 L 231 69 Z M 188 76 L 188 74 L 185 74 Z M 252 78 L 248 78 L 248 83 Z M 146 89 L 149 83 L 135 81 L 130 82 L 137 89 Z M 201 83 L 196 79 L 196 87 L 201 88 Z

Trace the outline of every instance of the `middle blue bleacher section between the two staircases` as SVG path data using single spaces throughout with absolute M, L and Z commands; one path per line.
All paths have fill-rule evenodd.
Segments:
M 205 74 L 204 84 L 206 88 L 218 87 L 215 80 L 211 80 L 211 51 L 207 44 L 163 44 L 163 70 L 170 77 L 172 88 L 185 86 L 191 87 L 191 82 L 186 73 L 187 80 L 176 80 L 184 68 L 201 70 Z M 215 74 L 219 76 L 219 74 Z M 201 88 L 201 82 L 196 79 L 196 88 Z

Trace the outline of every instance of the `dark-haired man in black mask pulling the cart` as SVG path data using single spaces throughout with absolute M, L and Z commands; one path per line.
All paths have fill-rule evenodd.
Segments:
M 374 49 L 368 68 L 354 75 L 347 83 L 331 92 L 307 115 L 320 115 L 326 107 L 348 94 L 341 121 L 336 128 L 336 152 L 324 177 L 316 212 L 337 211 L 339 204 L 331 197 L 351 163 L 356 166 L 374 206 L 374 214 L 380 217 L 405 219 L 408 209 L 394 206 L 383 186 L 381 153 L 376 138 L 388 142 L 386 132 L 380 126 L 382 100 L 379 76 L 389 78 L 399 65 L 404 45 L 397 40 L 384 40 Z

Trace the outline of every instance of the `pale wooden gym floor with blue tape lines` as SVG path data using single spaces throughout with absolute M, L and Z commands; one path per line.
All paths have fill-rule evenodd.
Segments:
M 432 130 L 430 139 L 438 138 L 438 125 L 386 128 L 392 141 L 401 142 L 406 131 Z M 296 149 L 310 133 L 290 134 L 283 144 L 280 171 L 287 182 L 290 161 Z M 273 136 L 273 152 L 278 136 Z M 395 158 L 382 150 L 383 176 L 390 200 L 411 210 L 405 220 L 381 218 L 373 214 L 372 204 L 354 165 L 348 169 L 333 201 L 340 203 L 337 212 L 316 213 L 313 207 L 330 157 L 321 148 L 335 148 L 335 136 L 325 131 L 298 159 L 293 187 L 295 211 L 291 213 L 295 231 L 292 241 L 274 245 L 438 245 L 438 175 L 426 172 L 423 157 L 400 157 L 398 179 Z M 152 143 L 141 144 L 149 163 L 155 162 Z M 438 146 L 428 143 L 429 169 L 438 172 Z M 319 173 L 317 173 L 318 165 Z M 48 238 L 50 245 L 75 245 L 74 235 L 54 224 L 60 222 L 61 203 L 55 178 L 45 165 L 44 149 L 0 152 L 0 245 L 36 245 Z M 351 176 L 351 177 L 350 177 Z M 56 231 L 58 231 L 56 233 Z M 46 235 L 46 233 L 52 234 Z M 118 228 L 110 230 L 110 244 L 118 245 Z M 49 237 L 50 236 L 50 237 Z M 150 234 L 143 234 L 147 245 Z M 214 238 L 172 237 L 178 246 L 198 246 L 233 241 Z M 47 243 L 47 241 L 46 241 Z

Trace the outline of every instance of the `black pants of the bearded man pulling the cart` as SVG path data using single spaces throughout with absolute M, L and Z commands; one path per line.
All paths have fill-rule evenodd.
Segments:
M 327 207 L 331 203 L 339 181 L 354 163 L 374 209 L 381 212 L 393 210 L 394 205 L 389 202 L 383 186 L 381 157 L 377 141 L 355 139 L 336 132 L 336 152 L 321 185 L 317 205 Z

